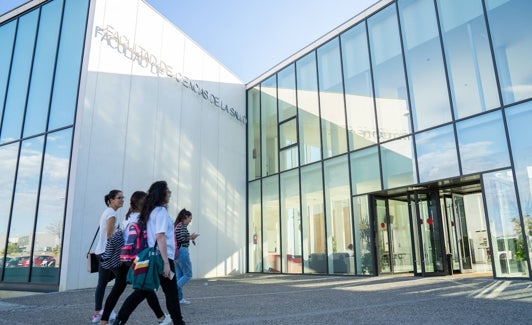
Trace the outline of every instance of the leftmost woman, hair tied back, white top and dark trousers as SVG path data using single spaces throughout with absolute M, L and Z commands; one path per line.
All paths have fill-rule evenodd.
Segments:
M 104 197 L 105 209 L 100 217 L 100 230 L 98 242 L 94 252 L 100 257 L 105 252 L 105 244 L 107 239 L 111 237 L 116 229 L 116 212 L 124 205 L 124 193 L 120 190 L 112 190 Z M 92 315 L 92 322 L 98 323 L 102 317 L 102 303 L 103 296 L 105 295 L 105 287 L 107 283 L 114 279 L 114 273 L 112 270 L 105 269 L 100 264 L 98 269 L 98 285 L 96 286 L 96 292 L 94 294 L 94 314 Z

